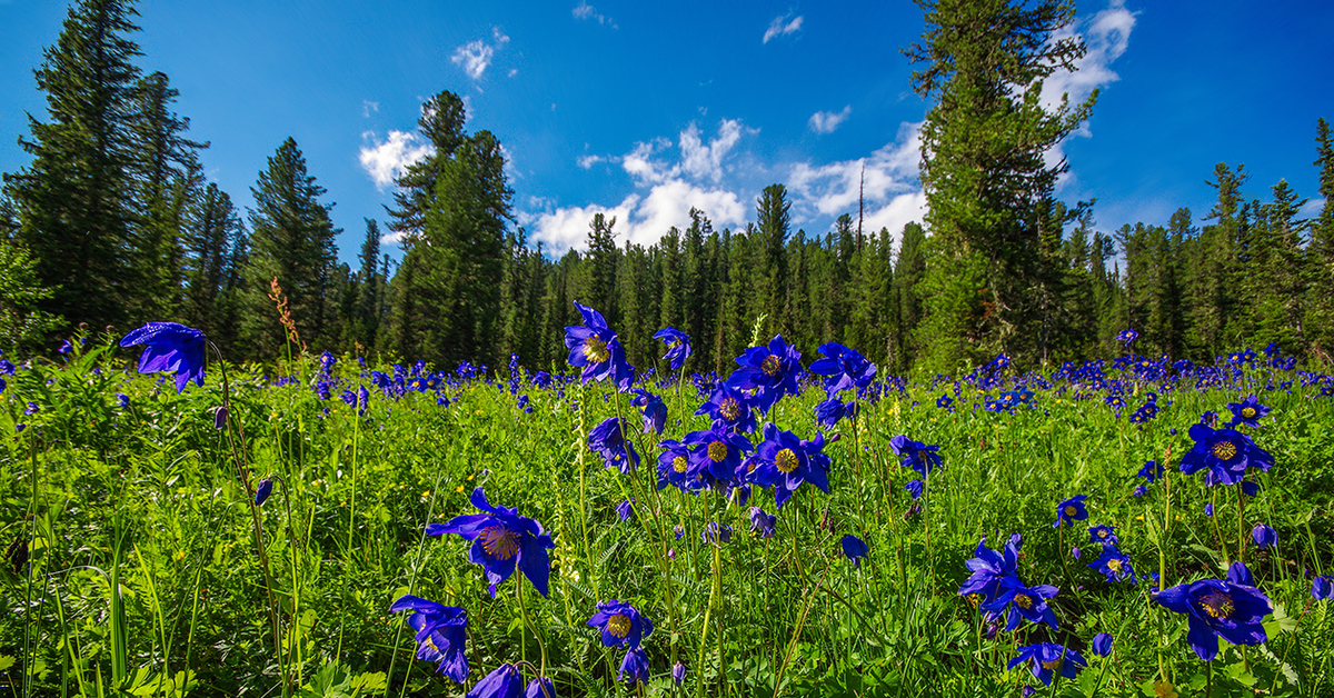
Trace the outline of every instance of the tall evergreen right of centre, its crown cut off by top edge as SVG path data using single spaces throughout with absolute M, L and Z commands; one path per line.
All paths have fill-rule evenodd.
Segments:
M 922 127 L 922 183 L 932 231 L 927 246 L 928 316 L 919 336 L 932 366 L 1007 350 L 1033 352 L 1038 260 L 1033 211 L 1050 196 L 1065 161 L 1046 153 L 1087 119 L 1097 92 L 1053 111 L 1043 80 L 1074 71 L 1078 35 L 1061 35 L 1074 3 L 916 0 L 923 43 L 914 89 L 936 104 Z

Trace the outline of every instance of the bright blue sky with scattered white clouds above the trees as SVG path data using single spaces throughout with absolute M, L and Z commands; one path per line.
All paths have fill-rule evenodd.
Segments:
M 32 68 L 64 3 L 0 0 L 0 171 L 27 163 L 27 113 L 45 120 Z M 391 178 L 414 156 L 422 103 L 462 95 L 470 131 L 503 144 L 515 218 L 556 254 L 580 248 L 594 212 L 622 240 L 652 243 L 688 224 L 744 227 L 767 184 L 791 191 L 794 222 L 824 232 L 920 219 L 916 124 L 899 52 L 922 13 L 894 3 L 163 1 L 137 5 L 144 71 L 180 91 L 189 136 L 208 140 L 208 178 L 241 207 L 287 136 L 335 203 L 352 262 L 363 219 L 382 223 Z M 1214 164 L 1246 164 L 1243 192 L 1287 179 L 1319 208 L 1315 119 L 1334 119 L 1334 4 L 1086 0 L 1073 31 L 1082 69 L 1049 96 L 1102 89 L 1082 133 L 1062 144 L 1058 195 L 1097 198 L 1098 227 L 1209 211 Z

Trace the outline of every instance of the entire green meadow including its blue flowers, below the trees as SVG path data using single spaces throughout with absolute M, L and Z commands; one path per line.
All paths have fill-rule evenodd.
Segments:
M 0 360 L 0 693 L 1334 694 L 1334 379 L 1275 347 L 700 375 L 584 319 L 544 371 Z

